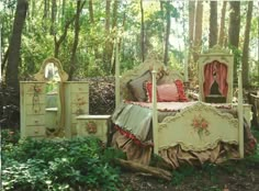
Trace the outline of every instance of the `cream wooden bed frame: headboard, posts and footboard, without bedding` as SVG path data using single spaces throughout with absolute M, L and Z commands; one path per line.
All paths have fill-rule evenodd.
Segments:
M 215 106 L 196 102 L 188 106 L 174 116 L 167 116 L 161 123 L 158 123 L 157 115 L 157 91 L 156 75 L 157 70 L 166 68 L 159 58 L 151 55 L 143 64 L 123 74 L 120 78 L 119 66 L 116 66 L 116 104 L 122 100 L 128 100 L 128 90 L 126 83 L 130 79 L 135 79 L 147 69 L 153 68 L 153 139 L 154 153 L 180 145 L 183 150 L 203 151 L 213 149 L 219 142 L 236 144 L 239 148 L 239 157 L 244 157 L 244 119 L 243 119 L 243 85 L 241 71 L 238 71 L 238 117 L 232 114 L 222 113 Z M 183 79 L 182 75 L 169 68 L 166 69 L 168 80 Z M 226 105 L 233 106 L 232 103 Z M 116 105 L 117 106 L 117 105 Z M 194 123 L 195 122 L 195 123 Z M 205 132 L 202 125 L 206 126 Z M 198 133 L 196 130 L 201 128 Z

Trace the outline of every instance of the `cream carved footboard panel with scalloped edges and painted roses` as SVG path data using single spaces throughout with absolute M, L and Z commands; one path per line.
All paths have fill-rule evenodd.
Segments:
M 180 145 L 183 150 L 202 151 L 218 142 L 238 144 L 238 119 L 198 102 L 158 124 L 158 150 Z

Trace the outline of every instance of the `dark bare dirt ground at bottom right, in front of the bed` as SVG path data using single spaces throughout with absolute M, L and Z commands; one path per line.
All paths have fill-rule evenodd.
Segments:
M 194 168 L 187 175 L 173 173 L 171 182 L 148 175 L 123 171 L 121 180 L 128 191 L 259 191 L 259 162 Z M 188 171 L 188 170 L 185 170 Z M 189 175 L 188 175 L 189 173 Z

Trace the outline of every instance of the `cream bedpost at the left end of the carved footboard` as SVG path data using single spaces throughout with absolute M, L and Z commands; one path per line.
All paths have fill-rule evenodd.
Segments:
M 153 143 L 154 143 L 154 153 L 158 154 L 158 122 L 157 122 L 157 71 L 155 68 L 151 71 L 153 74 Z

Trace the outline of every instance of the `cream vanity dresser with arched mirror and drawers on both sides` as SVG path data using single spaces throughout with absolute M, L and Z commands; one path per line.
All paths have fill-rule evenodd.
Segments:
M 25 137 L 76 136 L 76 116 L 89 113 L 87 81 L 67 81 L 56 58 L 43 61 L 35 81 L 21 81 L 21 135 Z

